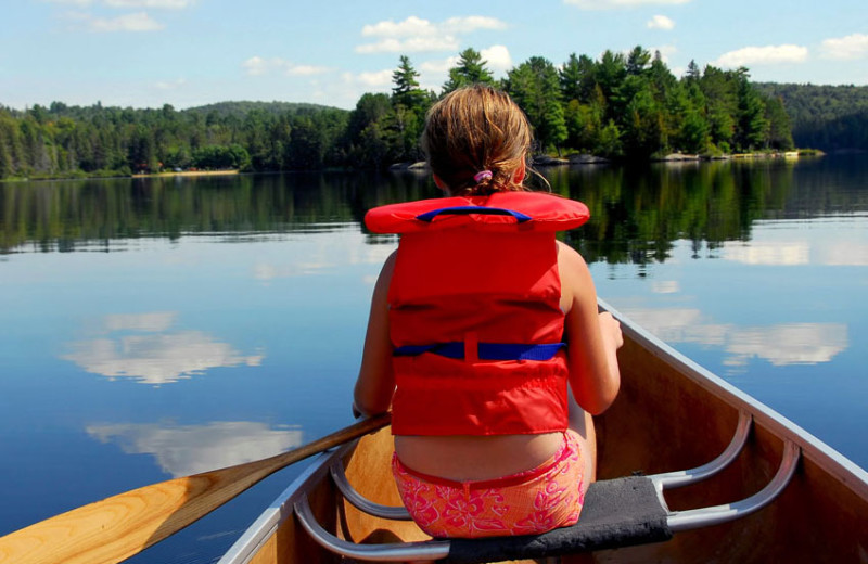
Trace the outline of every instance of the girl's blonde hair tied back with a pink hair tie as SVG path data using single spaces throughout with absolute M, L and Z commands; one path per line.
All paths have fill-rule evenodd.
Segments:
M 525 164 L 532 140 L 527 117 L 506 92 L 475 85 L 432 106 L 421 144 L 451 195 L 485 195 L 526 190 L 515 182 L 515 171 Z M 485 171 L 490 175 L 480 174 Z

